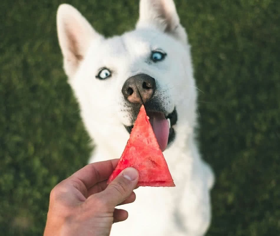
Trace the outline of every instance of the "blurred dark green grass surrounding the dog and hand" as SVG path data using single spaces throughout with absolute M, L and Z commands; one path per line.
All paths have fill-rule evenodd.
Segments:
M 280 1 L 175 2 L 203 91 L 200 149 L 216 174 L 207 235 L 280 235 Z M 42 235 L 50 190 L 92 148 L 62 70 L 60 3 L 0 3 L 0 235 Z M 68 3 L 106 36 L 138 17 L 134 0 Z

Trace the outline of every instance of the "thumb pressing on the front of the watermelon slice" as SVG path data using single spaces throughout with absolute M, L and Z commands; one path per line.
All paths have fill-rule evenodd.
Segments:
M 101 195 L 99 197 L 106 202 L 108 207 L 114 208 L 130 196 L 138 183 L 138 179 L 139 174 L 135 168 L 126 168 L 109 183 L 104 191 L 98 193 Z

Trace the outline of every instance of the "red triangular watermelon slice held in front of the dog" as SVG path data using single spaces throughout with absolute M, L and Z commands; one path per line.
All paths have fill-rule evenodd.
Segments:
M 138 170 L 137 186 L 175 186 L 144 105 L 140 108 L 121 159 L 109 177 L 108 183 L 127 167 L 134 167 Z

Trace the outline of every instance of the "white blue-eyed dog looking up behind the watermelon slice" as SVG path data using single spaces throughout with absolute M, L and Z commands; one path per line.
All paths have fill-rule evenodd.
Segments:
M 144 103 L 176 187 L 140 187 L 111 235 L 204 235 L 210 167 L 195 143 L 197 90 L 187 34 L 172 0 L 141 0 L 136 29 L 104 38 L 72 6 L 57 12 L 64 70 L 96 148 L 90 162 L 120 158 Z

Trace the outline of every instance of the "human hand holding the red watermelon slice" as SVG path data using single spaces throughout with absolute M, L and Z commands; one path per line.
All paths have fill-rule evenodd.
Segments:
M 50 193 L 44 236 L 108 236 L 112 224 L 128 213 L 117 205 L 134 202 L 139 174 L 123 170 L 108 186 L 118 159 L 86 165 L 57 184 Z

